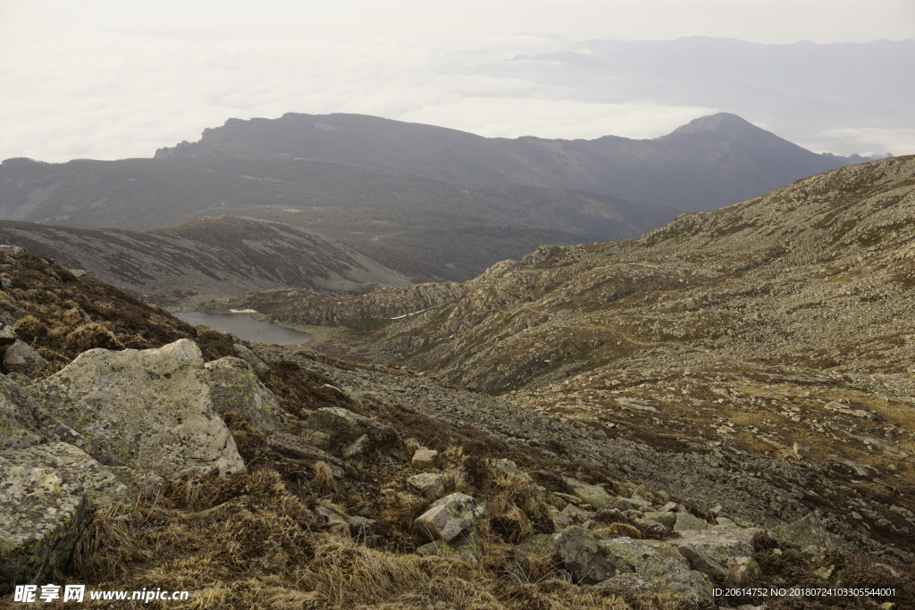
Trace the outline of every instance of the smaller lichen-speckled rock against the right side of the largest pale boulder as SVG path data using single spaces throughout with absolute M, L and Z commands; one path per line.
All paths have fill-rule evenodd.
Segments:
M 207 381 L 213 409 L 220 415 L 241 413 L 255 428 L 281 429 L 286 416 L 274 393 L 257 377 L 247 362 L 227 356 L 207 362 Z

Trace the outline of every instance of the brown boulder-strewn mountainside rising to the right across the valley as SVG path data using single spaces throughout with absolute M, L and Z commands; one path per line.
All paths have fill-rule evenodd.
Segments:
M 312 348 L 587 423 L 653 486 L 745 498 L 727 510 L 759 523 L 816 508 L 856 548 L 911 561 L 913 248 L 907 156 L 635 240 L 544 246 L 464 284 L 232 306 L 345 325 Z

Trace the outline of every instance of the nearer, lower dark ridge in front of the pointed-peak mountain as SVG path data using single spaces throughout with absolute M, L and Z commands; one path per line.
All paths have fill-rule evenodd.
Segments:
M 4 219 L 142 230 L 225 214 L 316 230 L 402 273 L 446 280 L 468 279 L 543 243 L 633 237 L 673 217 L 588 193 L 326 162 L 7 159 L 0 166 Z

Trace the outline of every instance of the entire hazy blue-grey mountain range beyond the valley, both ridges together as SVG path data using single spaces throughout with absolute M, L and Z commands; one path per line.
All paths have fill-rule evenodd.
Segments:
M 420 280 L 463 281 L 544 243 L 636 237 L 856 163 L 722 113 L 654 140 L 483 138 L 352 114 L 231 120 L 156 158 L 7 159 L 0 218 L 157 229 L 231 214 L 349 244 Z

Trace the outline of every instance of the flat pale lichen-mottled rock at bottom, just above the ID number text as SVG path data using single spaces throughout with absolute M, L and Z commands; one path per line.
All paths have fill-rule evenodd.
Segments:
M 614 538 L 601 540 L 619 575 L 600 584 L 610 590 L 636 588 L 646 593 L 686 599 L 712 600 L 712 582 L 695 572 L 672 545 L 659 540 Z

